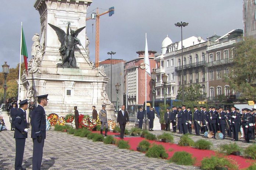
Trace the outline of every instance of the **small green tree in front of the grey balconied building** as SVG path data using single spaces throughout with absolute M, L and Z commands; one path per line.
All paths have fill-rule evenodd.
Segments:
M 196 101 L 204 96 L 200 84 L 194 84 L 184 87 L 184 101 Z M 179 87 L 177 99 L 182 99 L 182 87 Z

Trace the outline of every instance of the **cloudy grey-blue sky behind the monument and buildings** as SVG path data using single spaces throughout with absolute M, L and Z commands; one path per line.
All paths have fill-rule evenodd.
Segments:
M 26 38 L 29 59 L 31 38 L 40 33 L 40 18 L 33 7 L 35 0 L 1 0 L 0 58 L 11 67 L 19 63 L 20 26 Z M 222 36 L 232 29 L 243 29 L 242 0 L 93 0 L 88 8 L 102 13 L 114 6 L 115 14 L 100 17 L 100 61 L 110 58 L 131 60 L 136 51 L 145 49 L 145 33 L 149 50 L 161 52 L 161 43 L 168 36 L 173 42 L 181 40 L 180 28 L 174 23 L 188 22 L 183 38 L 201 36 L 204 40 L 216 33 Z M 94 26 L 92 27 L 92 24 Z M 86 22 L 90 40 L 90 58 L 95 58 L 95 20 Z M 0 68 L 2 70 L 2 68 Z

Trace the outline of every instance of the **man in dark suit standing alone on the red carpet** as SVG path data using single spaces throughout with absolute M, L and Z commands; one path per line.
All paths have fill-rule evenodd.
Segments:
M 121 110 L 117 113 L 117 123 L 120 126 L 120 138 L 124 138 L 125 125 L 129 125 L 129 115 L 128 112 L 125 111 L 125 106 L 121 107 Z

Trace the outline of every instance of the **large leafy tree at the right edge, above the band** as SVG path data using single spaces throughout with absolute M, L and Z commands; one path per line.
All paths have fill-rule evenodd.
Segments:
M 256 100 L 256 39 L 246 37 L 234 48 L 232 71 L 225 81 L 241 92 L 241 99 Z

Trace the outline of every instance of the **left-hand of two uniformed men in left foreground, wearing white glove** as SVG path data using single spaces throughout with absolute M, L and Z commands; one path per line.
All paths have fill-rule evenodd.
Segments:
M 16 142 L 16 154 L 15 154 L 15 170 L 25 170 L 22 168 L 23 155 L 26 138 L 28 138 L 26 111 L 28 109 L 28 100 L 23 100 L 19 103 L 19 110 L 16 118 L 14 119 L 14 138 Z

